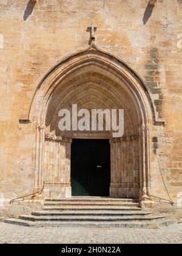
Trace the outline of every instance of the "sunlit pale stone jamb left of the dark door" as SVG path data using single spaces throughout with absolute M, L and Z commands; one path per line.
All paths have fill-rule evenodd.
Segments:
M 45 134 L 44 171 L 46 197 L 70 197 L 71 138 Z

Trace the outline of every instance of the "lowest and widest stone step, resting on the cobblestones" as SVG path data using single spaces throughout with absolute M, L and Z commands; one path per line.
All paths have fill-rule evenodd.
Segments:
M 89 221 L 25 221 L 22 219 L 6 219 L 4 222 L 8 224 L 15 224 L 25 227 L 123 227 L 123 228 L 149 228 L 149 229 L 158 229 L 160 227 L 169 226 L 176 224 L 175 220 L 165 220 L 165 221 L 152 221 L 147 222 L 124 222 L 124 221 L 115 221 L 115 222 L 89 222 Z

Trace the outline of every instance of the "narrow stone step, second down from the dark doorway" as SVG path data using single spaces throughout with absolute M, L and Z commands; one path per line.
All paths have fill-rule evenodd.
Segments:
M 44 202 L 44 206 L 52 206 L 52 205 L 55 205 L 55 206 L 77 206 L 77 205 L 82 205 L 82 206 L 121 206 L 121 207 L 138 207 L 139 204 L 138 203 L 133 203 L 133 202 L 95 202 L 95 201 L 91 201 L 91 202 L 72 202 L 72 201 L 66 201 L 66 202 L 56 202 L 56 201 L 50 201 L 50 202 L 47 202 L 45 201 Z

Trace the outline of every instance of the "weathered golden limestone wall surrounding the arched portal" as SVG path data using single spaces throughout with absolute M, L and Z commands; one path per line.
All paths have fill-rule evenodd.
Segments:
M 182 191 L 182 2 L 158 0 L 0 0 L 0 214 L 33 192 L 35 126 L 27 119 L 42 77 L 70 54 L 96 44 L 126 62 L 149 88 L 157 118 L 150 133 L 151 193 Z M 159 164 L 160 163 L 160 167 Z M 163 178 L 161 176 L 163 174 Z M 181 199 L 182 200 L 182 199 Z

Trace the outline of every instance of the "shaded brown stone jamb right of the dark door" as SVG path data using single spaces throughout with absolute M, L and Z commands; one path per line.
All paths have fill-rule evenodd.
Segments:
M 138 140 L 138 135 L 110 139 L 112 197 L 139 197 Z

